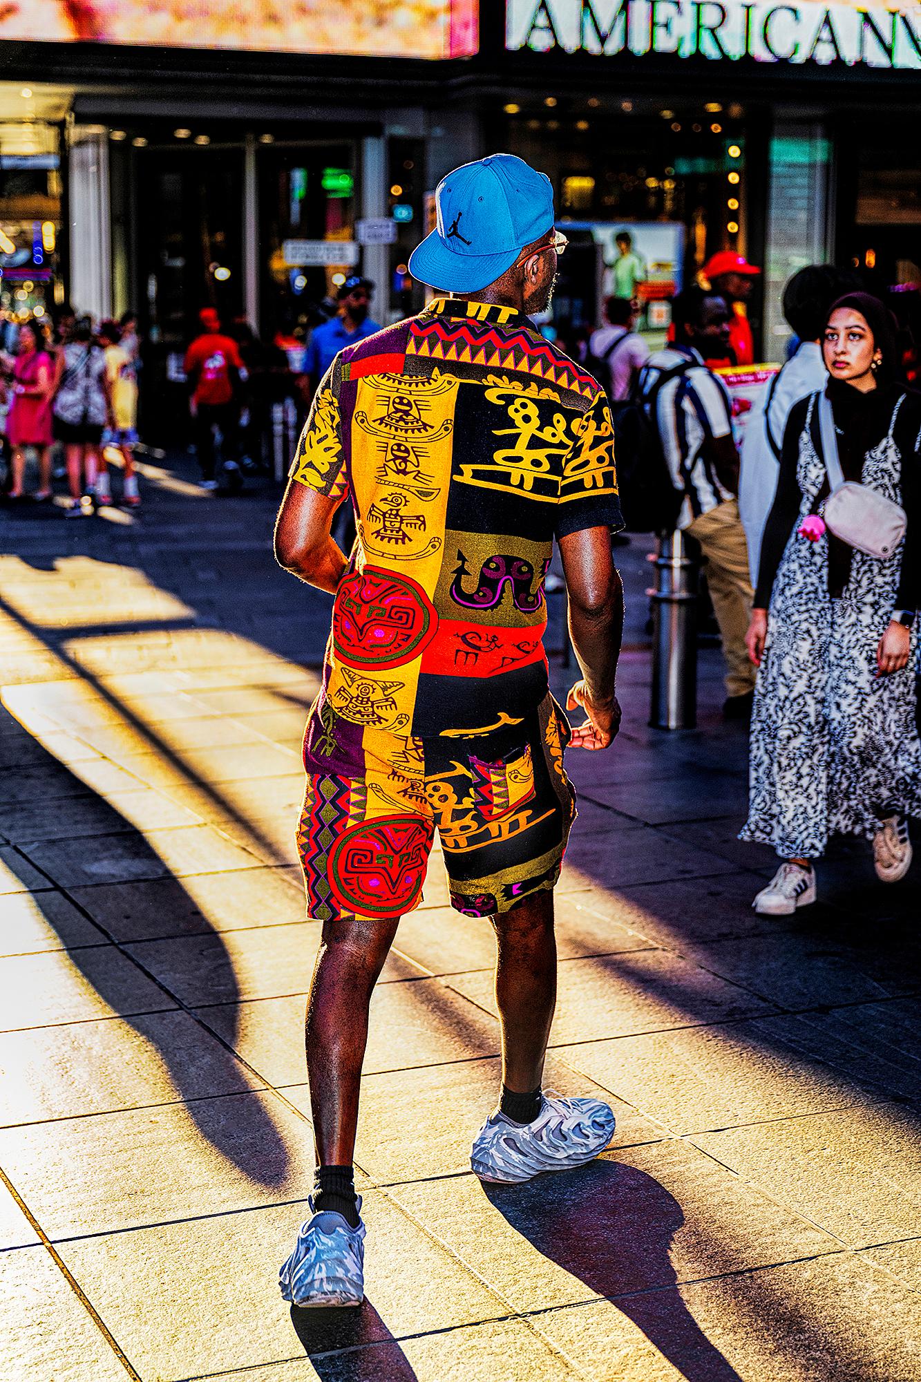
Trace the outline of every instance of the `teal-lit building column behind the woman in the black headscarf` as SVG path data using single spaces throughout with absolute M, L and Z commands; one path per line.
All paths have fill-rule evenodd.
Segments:
M 783 361 L 790 328 L 784 283 L 806 264 L 834 257 L 834 158 L 823 120 L 774 122 L 765 256 L 765 358 Z

